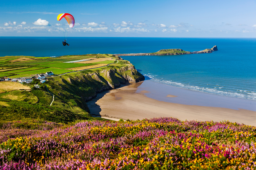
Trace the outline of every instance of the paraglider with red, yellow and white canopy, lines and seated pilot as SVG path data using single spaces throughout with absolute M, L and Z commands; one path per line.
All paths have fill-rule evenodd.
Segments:
M 64 14 L 59 14 L 58 17 L 57 17 L 57 20 L 60 21 L 60 25 L 61 25 L 61 28 L 62 28 L 61 31 L 63 33 L 63 38 L 64 38 L 64 41 L 62 42 L 62 44 L 64 46 L 65 45 L 69 46 L 69 44 L 66 42 L 66 40 L 68 38 L 70 28 L 74 27 L 75 19 L 71 14 L 64 13 Z

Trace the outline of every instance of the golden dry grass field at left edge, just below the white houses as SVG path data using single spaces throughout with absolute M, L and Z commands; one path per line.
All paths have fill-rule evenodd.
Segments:
M 30 87 L 17 82 L 8 82 L 8 81 L 0 82 L 0 93 L 5 91 L 11 91 L 11 90 L 19 90 L 19 89 L 30 90 Z

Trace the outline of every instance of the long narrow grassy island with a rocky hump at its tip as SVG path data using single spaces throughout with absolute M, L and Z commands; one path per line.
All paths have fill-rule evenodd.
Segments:
M 114 54 L 114 56 L 164 56 L 164 55 L 181 55 L 181 54 L 200 54 L 200 53 L 212 53 L 212 51 L 217 51 L 217 45 L 212 48 L 206 48 L 201 51 L 184 51 L 182 49 L 162 49 L 156 53 L 132 53 L 132 54 Z

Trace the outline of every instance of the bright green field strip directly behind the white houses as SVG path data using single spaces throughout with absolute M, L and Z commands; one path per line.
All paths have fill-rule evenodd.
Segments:
M 73 70 L 65 70 L 65 69 L 57 69 L 57 68 L 46 68 L 46 69 L 40 69 L 40 70 L 31 70 L 31 71 L 23 71 L 23 72 L 18 72 L 16 74 L 20 74 L 19 77 L 21 77 L 21 75 L 31 75 L 31 74 L 40 74 L 40 73 L 46 73 L 52 71 L 54 74 L 63 74 L 63 73 L 67 73 Z

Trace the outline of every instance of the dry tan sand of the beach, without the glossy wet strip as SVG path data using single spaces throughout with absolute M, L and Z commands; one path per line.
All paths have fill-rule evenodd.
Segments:
M 256 111 L 159 101 L 146 96 L 146 94 L 150 94 L 151 91 L 148 91 L 146 88 L 140 88 L 142 83 L 143 82 L 139 82 L 129 86 L 121 86 L 120 88 L 98 94 L 96 98 L 87 102 L 91 114 L 94 116 L 124 120 L 142 120 L 153 117 L 176 117 L 182 121 L 229 120 L 230 122 L 256 126 Z M 164 93 L 166 93 L 166 98 L 171 98 L 172 100 L 175 98 L 178 99 L 179 97 L 177 90 L 175 94 Z M 206 95 L 200 92 L 196 93 Z M 198 98 L 198 96 L 196 97 Z M 207 96 L 205 100 L 207 100 Z M 221 98 L 219 100 L 221 100 Z M 224 98 L 224 100 L 227 99 Z M 233 99 L 231 98 L 230 100 L 232 101 Z

